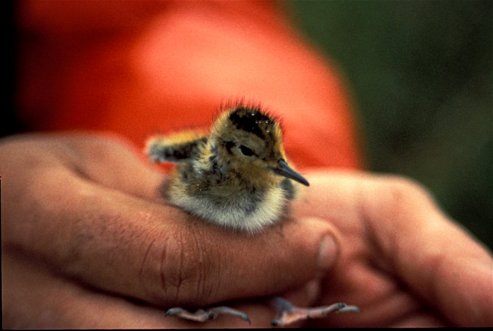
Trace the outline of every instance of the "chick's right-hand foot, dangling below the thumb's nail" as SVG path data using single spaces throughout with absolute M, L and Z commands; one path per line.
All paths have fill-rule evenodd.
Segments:
M 271 322 L 272 326 L 289 326 L 297 321 L 323 318 L 331 313 L 343 313 L 345 311 L 360 310 L 356 306 L 350 306 L 342 302 L 334 303 L 328 306 L 300 308 L 296 307 L 288 300 L 279 297 L 271 299 L 270 304 L 277 311 L 276 318 Z

